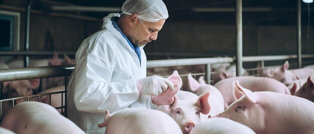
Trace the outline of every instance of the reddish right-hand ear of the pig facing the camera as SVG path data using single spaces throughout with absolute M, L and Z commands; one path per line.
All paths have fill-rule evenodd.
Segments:
M 207 114 L 210 111 L 210 105 L 208 103 L 209 92 L 202 94 L 196 101 L 196 105 L 201 108 L 200 112 L 203 114 Z

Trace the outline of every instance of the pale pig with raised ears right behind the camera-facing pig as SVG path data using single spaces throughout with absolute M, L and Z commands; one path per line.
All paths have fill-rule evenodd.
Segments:
M 217 115 L 225 110 L 224 98 L 220 91 L 213 85 L 207 84 L 203 76 L 199 77 L 199 81 L 192 77 L 192 74 L 188 75 L 190 90 L 197 95 L 202 95 L 209 92 L 208 102 L 210 105 L 209 115 Z

